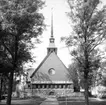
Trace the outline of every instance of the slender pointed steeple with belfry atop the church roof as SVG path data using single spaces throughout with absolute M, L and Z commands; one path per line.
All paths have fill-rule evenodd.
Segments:
M 55 38 L 53 36 L 53 11 L 51 13 L 51 37 L 49 38 L 49 47 L 47 48 L 47 53 L 49 54 L 51 52 L 57 54 L 57 47 L 55 47 Z

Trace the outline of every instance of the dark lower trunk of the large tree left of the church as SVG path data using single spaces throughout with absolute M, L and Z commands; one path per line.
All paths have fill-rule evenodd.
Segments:
M 14 77 L 14 71 L 10 72 L 10 78 L 9 78 L 9 84 L 8 84 L 7 105 L 11 105 L 11 96 L 12 96 L 12 88 L 13 88 L 13 77 Z

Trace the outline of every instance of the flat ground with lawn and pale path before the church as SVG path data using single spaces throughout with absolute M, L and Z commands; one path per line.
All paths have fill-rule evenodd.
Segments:
M 58 100 L 58 101 L 57 101 Z M 0 105 L 5 105 L 6 100 L 2 100 Z M 67 102 L 67 103 L 66 103 Z M 31 98 L 31 99 L 14 99 L 12 105 L 85 105 L 84 99 L 74 97 L 72 99 L 65 98 Z M 106 99 L 90 98 L 90 105 L 106 105 Z

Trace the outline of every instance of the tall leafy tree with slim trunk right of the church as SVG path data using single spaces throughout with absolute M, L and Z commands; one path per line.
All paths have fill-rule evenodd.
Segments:
M 65 42 L 67 46 L 74 46 L 71 54 L 82 68 L 86 105 L 89 105 L 88 80 L 99 62 L 92 55 L 105 40 L 106 34 L 106 6 L 98 9 L 99 3 L 99 0 L 68 0 L 68 16 L 73 22 L 73 33 Z

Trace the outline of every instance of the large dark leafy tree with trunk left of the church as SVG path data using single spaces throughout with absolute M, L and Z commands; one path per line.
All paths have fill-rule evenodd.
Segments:
M 3 33 L 0 43 L 5 49 L 6 62 L 12 66 L 9 75 L 7 105 L 11 104 L 14 72 L 18 72 L 24 62 L 32 61 L 29 50 L 31 39 L 37 38 L 44 29 L 44 17 L 39 13 L 44 2 L 41 0 L 1 0 L 0 14 Z

